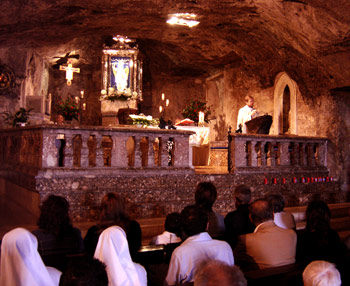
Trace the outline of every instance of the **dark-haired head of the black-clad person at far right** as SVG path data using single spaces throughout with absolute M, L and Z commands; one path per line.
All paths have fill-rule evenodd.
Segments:
M 327 231 L 330 228 L 331 211 L 322 200 L 311 201 L 305 212 L 306 229 L 309 231 Z

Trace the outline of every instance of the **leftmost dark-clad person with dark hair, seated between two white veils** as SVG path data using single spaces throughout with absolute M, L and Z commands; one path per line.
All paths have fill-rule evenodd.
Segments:
M 69 204 L 64 197 L 50 195 L 42 203 L 37 225 L 39 228 L 32 233 L 45 265 L 63 271 L 67 255 L 83 252 L 81 232 L 71 224 Z

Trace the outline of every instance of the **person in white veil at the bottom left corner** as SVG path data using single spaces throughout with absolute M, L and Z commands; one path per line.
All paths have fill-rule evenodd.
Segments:
M 61 272 L 45 266 L 36 237 L 24 228 L 6 233 L 1 244 L 0 285 L 57 286 Z

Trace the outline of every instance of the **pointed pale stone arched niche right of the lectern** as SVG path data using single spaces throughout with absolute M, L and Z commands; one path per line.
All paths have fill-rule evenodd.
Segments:
M 288 96 L 286 96 L 288 93 Z M 273 122 L 270 134 L 298 134 L 297 130 L 297 93 L 298 86 L 288 74 L 281 72 L 276 76 L 274 86 L 274 112 Z M 289 98 L 289 102 L 284 102 Z M 289 114 L 286 117 L 286 106 L 288 106 Z M 283 112 L 284 108 L 284 112 Z M 283 121 L 289 125 L 288 132 L 283 128 Z

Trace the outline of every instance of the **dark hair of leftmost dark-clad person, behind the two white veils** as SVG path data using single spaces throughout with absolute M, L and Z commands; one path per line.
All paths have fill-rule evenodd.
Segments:
M 69 218 L 68 201 L 61 196 L 50 195 L 40 207 L 37 225 L 40 229 L 57 237 L 70 231 L 72 224 Z

